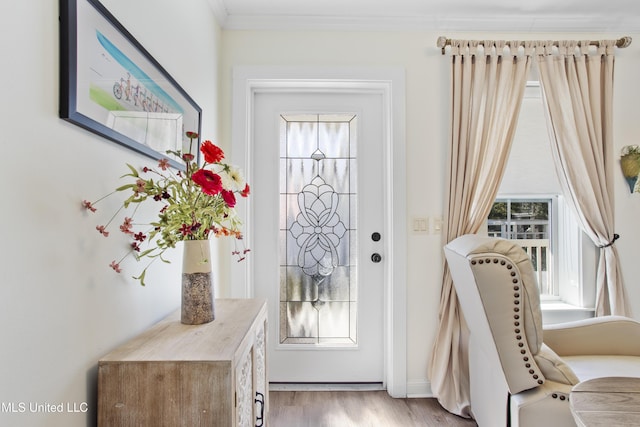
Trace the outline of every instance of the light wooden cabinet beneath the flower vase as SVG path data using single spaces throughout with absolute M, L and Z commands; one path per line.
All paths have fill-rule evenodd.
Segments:
M 266 426 L 264 300 L 218 299 L 216 319 L 171 314 L 98 363 L 98 426 Z

